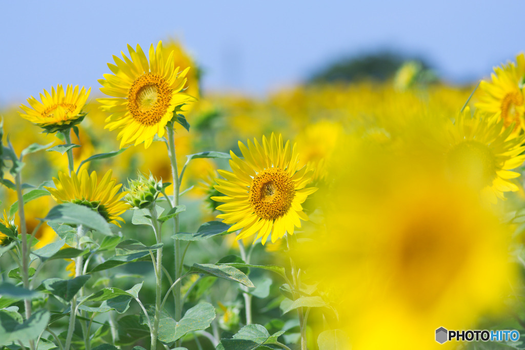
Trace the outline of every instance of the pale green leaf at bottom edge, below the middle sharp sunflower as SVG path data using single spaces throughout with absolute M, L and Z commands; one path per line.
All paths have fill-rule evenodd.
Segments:
M 253 350 L 265 344 L 275 344 L 277 338 L 285 332 L 270 335 L 264 326 L 250 324 L 241 328 L 232 339 L 221 339 L 224 350 Z

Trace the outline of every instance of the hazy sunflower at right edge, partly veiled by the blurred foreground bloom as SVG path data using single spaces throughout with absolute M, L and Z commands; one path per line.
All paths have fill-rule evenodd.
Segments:
M 454 124 L 445 125 L 438 141 L 447 173 L 456 181 L 481 190 L 490 203 L 505 199 L 505 192 L 519 190 L 512 179 L 520 174 L 511 169 L 525 160 L 521 154 L 525 150 L 525 135 L 511 137 L 512 127 L 505 129 L 503 124 L 503 120 L 490 120 L 480 113 L 471 116 L 466 108 Z

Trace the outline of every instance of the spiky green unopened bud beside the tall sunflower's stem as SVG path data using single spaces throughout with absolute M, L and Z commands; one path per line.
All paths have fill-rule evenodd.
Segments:
M 128 194 L 125 195 L 124 200 L 135 208 L 143 209 L 155 202 L 159 193 L 162 190 L 162 179 L 157 181 L 150 173 L 149 178 L 146 178 L 140 172 L 136 180 L 128 179 Z

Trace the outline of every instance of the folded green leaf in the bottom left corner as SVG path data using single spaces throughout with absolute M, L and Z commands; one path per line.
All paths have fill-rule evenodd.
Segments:
M 49 316 L 49 311 L 38 310 L 23 323 L 18 323 L 12 315 L 0 312 L 0 344 L 23 340 L 28 345 L 30 340 L 36 340 L 44 332 Z

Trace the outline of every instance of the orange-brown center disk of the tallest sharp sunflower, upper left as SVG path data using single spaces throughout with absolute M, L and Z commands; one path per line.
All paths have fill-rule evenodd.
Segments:
M 129 111 L 139 123 L 154 125 L 166 114 L 171 97 L 172 91 L 163 77 L 144 73 L 133 81 L 129 89 Z

